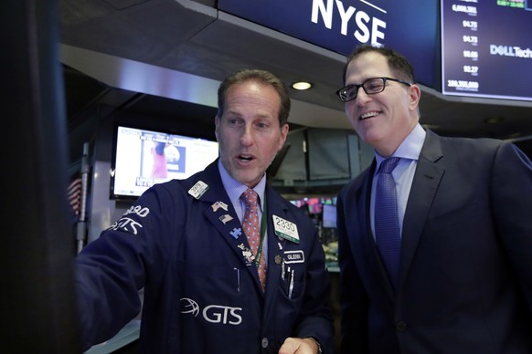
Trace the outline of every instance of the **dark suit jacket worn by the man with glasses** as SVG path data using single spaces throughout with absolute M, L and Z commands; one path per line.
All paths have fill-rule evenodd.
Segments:
M 427 131 L 394 294 L 371 234 L 376 162 L 338 197 L 346 353 L 532 353 L 532 164 Z

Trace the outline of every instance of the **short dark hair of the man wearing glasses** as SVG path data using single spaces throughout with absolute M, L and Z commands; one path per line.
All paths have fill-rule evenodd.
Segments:
M 416 76 L 414 73 L 414 68 L 410 64 L 409 60 L 406 57 L 403 57 L 395 50 L 388 47 L 374 47 L 367 44 L 360 45 L 355 48 L 353 53 L 347 57 L 346 66 L 344 67 L 344 82 L 346 82 L 346 73 L 347 66 L 352 60 L 355 60 L 356 57 L 359 57 L 362 54 L 376 52 L 383 55 L 388 60 L 388 66 L 392 70 L 396 78 L 409 81 L 411 83 L 416 82 Z

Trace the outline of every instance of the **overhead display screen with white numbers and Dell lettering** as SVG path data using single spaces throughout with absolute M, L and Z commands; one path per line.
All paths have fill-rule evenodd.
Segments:
M 442 0 L 442 93 L 532 100 L 532 0 Z

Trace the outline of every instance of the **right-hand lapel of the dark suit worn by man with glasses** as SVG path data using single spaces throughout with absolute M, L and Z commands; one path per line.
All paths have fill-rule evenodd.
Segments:
M 420 160 L 410 188 L 409 200 L 403 219 L 401 255 L 399 262 L 399 289 L 405 281 L 415 255 L 427 215 L 438 192 L 445 169 L 435 162 L 442 158 L 437 135 L 427 130 Z

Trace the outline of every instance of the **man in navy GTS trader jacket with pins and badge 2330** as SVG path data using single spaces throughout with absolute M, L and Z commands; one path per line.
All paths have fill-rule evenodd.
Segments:
M 85 347 L 141 310 L 145 353 L 332 352 L 325 255 L 310 219 L 266 183 L 288 133 L 282 82 L 242 70 L 218 89 L 220 157 L 156 184 L 77 257 Z M 241 220 L 259 195 L 264 290 Z

